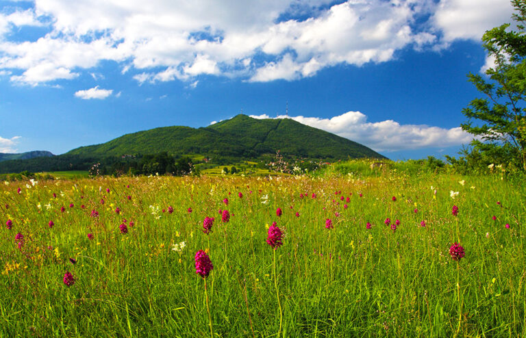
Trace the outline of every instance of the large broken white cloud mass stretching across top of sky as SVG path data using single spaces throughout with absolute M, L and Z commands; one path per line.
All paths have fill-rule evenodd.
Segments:
M 336 64 L 388 62 L 408 47 L 478 41 L 511 13 L 508 0 L 34 0 L 0 14 L 0 70 L 32 86 L 93 73 L 105 60 L 140 84 L 292 81 Z M 10 40 L 23 25 L 48 32 Z

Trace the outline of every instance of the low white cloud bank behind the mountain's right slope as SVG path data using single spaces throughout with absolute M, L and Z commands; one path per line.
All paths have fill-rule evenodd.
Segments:
M 266 114 L 251 117 L 270 118 Z M 394 120 L 368 122 L 367 116 L 361 112 L 347 112 L 332 118 L 284 115 L 276 118 L 286 117 L 364 144 L 378 152 L 460 146 L 473 140 L 473 136 L 460 127 L 444 129 L 427 125 L 401 125 Z

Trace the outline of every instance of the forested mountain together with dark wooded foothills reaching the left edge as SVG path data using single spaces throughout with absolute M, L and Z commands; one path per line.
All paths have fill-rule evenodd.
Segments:
M 264 162 L 274 157 L 276 151 L 284 156 L 328 161 L 386 158 L 362 144 L 290 118 L 260 120 L 238 115 L 208 127 L 161 127 L 123 135 L 103 144 L 81 146 L 62 155 L 40 152 L 52 157 L 5 160 L 0 162 L 0 173 L 88 170 L 97 163 L 105 172 L 127 172 L 129 168 L 144 172 L 147 162 L 147 166 L 159 165 L 158 170 L 164 172 L 171 161 L 166 156 L 202 155 L 212 159 L 210 165 L 214 166 L 248 159 Z

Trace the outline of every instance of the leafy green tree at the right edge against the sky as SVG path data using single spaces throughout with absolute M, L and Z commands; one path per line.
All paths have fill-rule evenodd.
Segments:
M 486 70 L 486 79 L 468 75 L 486 99 L 475 99 L 462 110 L 468 121 L 461 127 L 477 136 L 473 150 L 492 163 L 526 170 L 526 0 L 512 0 L 512 5 L 516 28 L 506 23 L 482 37 L 494 66 Z

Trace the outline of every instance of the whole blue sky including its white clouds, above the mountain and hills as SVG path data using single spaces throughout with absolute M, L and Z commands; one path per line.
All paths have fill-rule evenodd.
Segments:
M 0 0 L 0 152 L 286 114 L 392 159 L 455 155 L 508 0 Z

